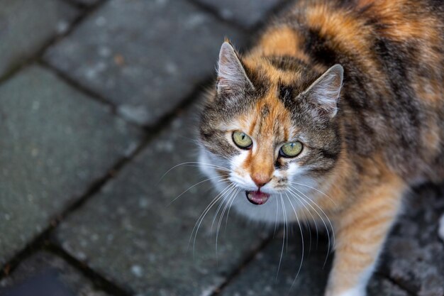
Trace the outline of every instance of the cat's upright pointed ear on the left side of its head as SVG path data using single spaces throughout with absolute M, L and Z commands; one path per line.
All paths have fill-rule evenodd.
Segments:
M 228 42 L 224 42 L 221 46 L 217 74 L 218 94 L 233 95 L 245 92 L 246 88 L 254 89 L 242 62 Z

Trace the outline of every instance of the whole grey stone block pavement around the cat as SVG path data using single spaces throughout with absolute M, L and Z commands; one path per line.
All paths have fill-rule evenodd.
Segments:
M 323 236 L 295 232 L 278 268 L 279 232 L 233 214 L 212 226 L 210 212 L 196 234 L 210 188 L 172 202 L 203 177 L 162 178 L 195 159 L 196 103 L 224 36 L 245 50 L 288 4 L 2 2 L 0 295 L 322 295 Z M 411 193 L 370 295 L 444 296 L 443 195 Z

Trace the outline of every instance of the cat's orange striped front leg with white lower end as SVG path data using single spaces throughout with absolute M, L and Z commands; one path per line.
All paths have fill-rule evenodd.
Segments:
M 335 258 L 326 296 L 365 296 L 379 252 L 401 206 L 404 182 L 393 177 L 335 218 Z

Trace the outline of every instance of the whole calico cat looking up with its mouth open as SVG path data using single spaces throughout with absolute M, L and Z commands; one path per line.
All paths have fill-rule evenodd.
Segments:
M 299 1 L 248 54 L 223 43 L 199 131 L 223 202 L 328 216 L 325 295 L 365 295 L 403 194 L 444 180 L 444 1 Z

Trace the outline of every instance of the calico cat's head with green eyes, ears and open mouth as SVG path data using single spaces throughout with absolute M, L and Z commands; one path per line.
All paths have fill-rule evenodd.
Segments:
M 199 129 L 200 167 L 218 197 L 274 222 L 321 196 L 316 189 L 329 182 L 340 154 L 342 82 L 340 65 L 323 71 L 292 57 L 242 58 L 223 43 Z

